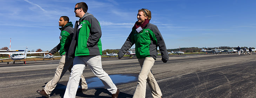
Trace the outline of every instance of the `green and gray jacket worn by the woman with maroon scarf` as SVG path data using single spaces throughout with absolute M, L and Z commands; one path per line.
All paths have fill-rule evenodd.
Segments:
M 157 47 L 159 47 L 162 58 L 168 61 L 168 52 L 163 37 L 158 28 L 151 23 L 148 23 L 139 33 L 135 28 L 132 29 L 132 32 L 119 51 L 119 58 L 122 57 L 133 44 L 135 44 L 135 54 L 137 58 L 153 57 L 156 59 Z

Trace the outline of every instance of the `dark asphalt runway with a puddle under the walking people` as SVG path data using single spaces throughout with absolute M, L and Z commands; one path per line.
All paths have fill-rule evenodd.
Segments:
M 162 98 L 255 98 L 256 53 L 170 55 L 163 63 L 157 57 L 152 72 Z M 59 60 L 0 63 L 0 98 L 44 98 L 36 93 L 54 76 Z M 102 58 L 103 69 L 120 89 L 119 98 L 132 98 L 140 72 L 136 57 Z M 66 72 L 50 98 L 62 98 L 70 72 Z M 111 98 L 93 72 L 83 71 L 89 90 L 76 98 Z M 152 98 L 147 85 L 146 98 Z

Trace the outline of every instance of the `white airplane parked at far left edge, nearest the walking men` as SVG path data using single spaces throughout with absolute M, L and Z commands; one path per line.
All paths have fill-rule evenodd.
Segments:
M 25 58 L 33 58 L 33 57 L 27 57 L 27 54 L 48 53 L 48 52 L 27 52 L 27 50 L 28 50 L 28 48 L 26 47 L 25 52 L 0 52 L 0 54 L 23 54 L 23 55 L 16 55 L 16 56 L 13 55 L 9 58 L 4 58 L 4 59 L 12 59 L 13 64 L 15 64 L 16 60 L 20 61 L 21 59 L 25 59 Z M 0 59 L 0 60 L 4 60 L 4 59 Z M 9 64 L 9 63 L 11 63 L 11 62 L 7 62 L 7 64 Z M 23 63 L 26 64 L 25 61 Z

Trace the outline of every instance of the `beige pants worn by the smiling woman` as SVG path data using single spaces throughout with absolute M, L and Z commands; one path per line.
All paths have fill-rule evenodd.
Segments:
M 138 84 L 136 90 L 134 92 L 133 98 L 145 98 L 146 96 L 146 84 L 151 89 L 151 93 L 153 98 L 160 98 L 162 96 L 162 92 L 156 83 L 156 79 L 151 73 L 151 68 L 154 65 L 155 59 L 153 57 L 146 57 L 138 59 L 141 71 L 138 77 Z

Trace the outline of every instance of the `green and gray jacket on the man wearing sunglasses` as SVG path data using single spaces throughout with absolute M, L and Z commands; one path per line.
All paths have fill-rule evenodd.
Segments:
M 100 38 L 100 23 L 92 14 L 86 12 L 75 24 L 74 37 L 68 56 L 102 55 Z

